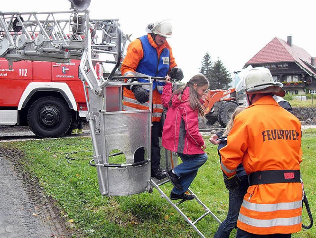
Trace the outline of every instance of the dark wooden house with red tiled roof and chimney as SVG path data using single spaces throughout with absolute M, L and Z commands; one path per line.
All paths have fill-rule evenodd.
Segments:
M 303 48 L 292 44 L 292 36 L 287 41 L 273 38 L 244 66 L 263 66 L 270 69 L 275 81 L 283 83 L 283 88 L 291 94 L 316 94 L 316 59 Z

